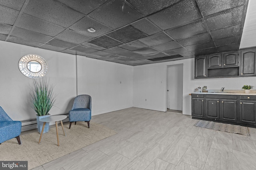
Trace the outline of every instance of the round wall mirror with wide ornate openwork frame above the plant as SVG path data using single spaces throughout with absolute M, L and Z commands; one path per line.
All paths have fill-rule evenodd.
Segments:
M 48 64 L 39 55 L 29 54 L 19 61 L 20 72 L 29 78 L 41 78 L 48 72 Z

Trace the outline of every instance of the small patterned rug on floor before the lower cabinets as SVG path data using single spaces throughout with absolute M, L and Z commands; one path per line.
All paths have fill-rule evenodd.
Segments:
M 223 132 L 236 133 L 236 134 L 241 134 L 241 135 L 245 135 L 245 136 L 250 136 L 248 127 L 244 127 L 244 126 L 240 126 L 240 125 L 230 125 L 230 124 L 226 124 L 226 123 L 217 123 L 217 122 L 213 122 L 213 121 L 199 120 L 196 122 L 196 124 L 194 126 L 204 127 L 207 129 L 213 129 L 216 131 L 223 131 Z

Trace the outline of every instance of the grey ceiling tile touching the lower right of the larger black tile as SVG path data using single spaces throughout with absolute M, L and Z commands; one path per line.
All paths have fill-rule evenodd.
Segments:
M 158 44 L 162 44 L 162 43 L 167 43 L 169 41 L 173 41 L 173 39 L 171 39 L 165 33 L 160 32 L 160 33 L 156 33 L 154 35 L 150 35 L 148 37 L 141 38 L 138 41 L 140 41 L 146 45 L 153 46 L 153 45 L 158 45 Z

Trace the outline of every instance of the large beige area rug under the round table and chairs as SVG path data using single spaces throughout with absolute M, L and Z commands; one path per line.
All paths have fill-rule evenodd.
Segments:
M 55 126 L 42 135 L 40 144 L 38 144 L 40 134 L 37 129 L 21 135 L 21 145 L 18 145 L 16 138 L 3 142 L 0 145 L 0 160 L 28 161 L 28 169 L 32 169 L 116 134 L 114 130 L 94 123 L 88 128 L 87 123 L 77 122 L 76 125 L 73 123 L 72 127 L 68 128 L 69 123 L 64 123 L 66 133 L 64 136 L 61 125 L 58 126 L 59 147 Z

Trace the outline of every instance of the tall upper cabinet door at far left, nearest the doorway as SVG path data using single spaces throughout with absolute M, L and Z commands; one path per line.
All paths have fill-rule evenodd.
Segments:
M 206 78 L 206 56 L 195 57 L 195 78 Z

